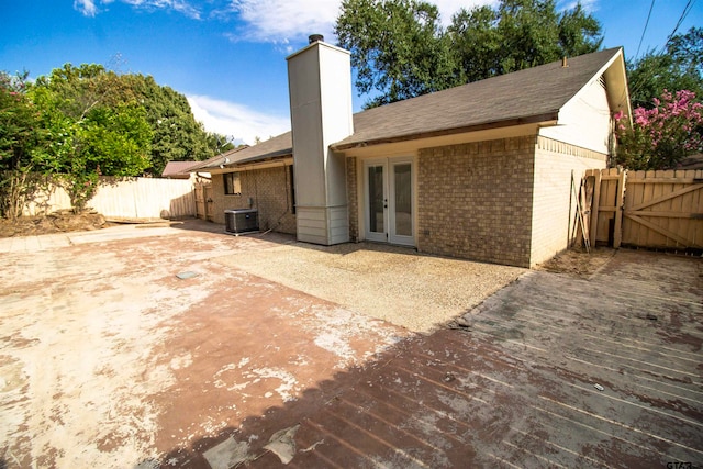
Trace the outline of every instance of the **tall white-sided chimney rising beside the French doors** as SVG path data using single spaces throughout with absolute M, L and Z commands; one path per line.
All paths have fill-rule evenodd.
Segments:
M 332 153 L 330 145 L 354 133 L 349 52 L 315 34 L 287 60 L 298 239 L 346 243 L 345 159 Z

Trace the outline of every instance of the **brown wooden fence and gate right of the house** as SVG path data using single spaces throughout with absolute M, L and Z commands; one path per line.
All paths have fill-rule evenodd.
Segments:
M 703 170 L 590 169 L 580 201 L 591 246 L 703 249 Z

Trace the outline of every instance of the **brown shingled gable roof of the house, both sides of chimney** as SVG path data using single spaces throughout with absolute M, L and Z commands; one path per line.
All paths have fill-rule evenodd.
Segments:
M 354 114 L 354 134 L 332 145 L 335 150 L 450 135 L 484 129 L 556 121 L 559 110 L 592 80 L 609 75 L 616 62 L 623 83 L 609 90 L 612 109 L 629 114 L 622 48 L 585 54 L 512 74 L 372 108 Z M 622 70 L 620 69 L 622 68 Z M 611 76 L 617 76 L 617 74 Z M 292 156 L 291 132 L 208 161 L 214 168 Z

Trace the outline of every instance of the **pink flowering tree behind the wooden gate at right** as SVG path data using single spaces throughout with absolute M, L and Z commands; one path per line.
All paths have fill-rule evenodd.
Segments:
M 637 108 L 632 129 L 615 114 L 618 165 L 627 169 L 673 169 L 689 155 L 703 152 L 703 104 L 695 94 L 663 91 L 652 109 Z

